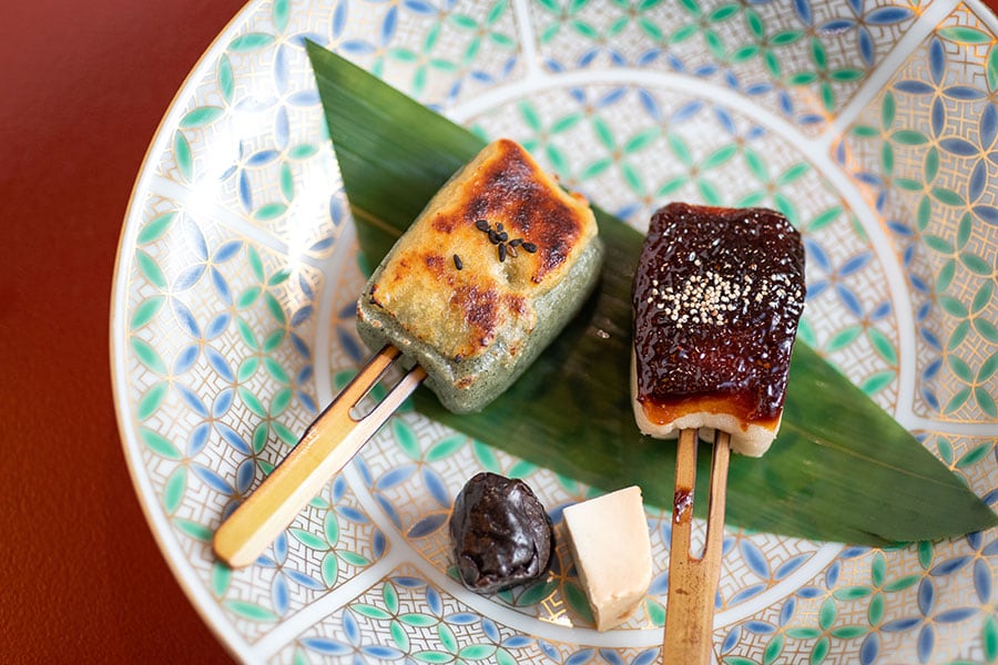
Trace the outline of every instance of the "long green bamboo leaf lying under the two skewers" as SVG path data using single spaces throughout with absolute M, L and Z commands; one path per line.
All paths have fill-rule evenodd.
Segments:
M 358 239 L 374 264 L 485 142 L 315 44 L 308 54 Z M 666 135 L 670 149 L 689 157 L 676 139 Z M 455 416 L 424 389 L 414 405 L 525 463 L 602 490 L 639 484 L 650 505 L 671 507 L 672 488 L 662 478 L 675 463 L 675 447 L 640 436 L 628 372 L 620 369 L 630 365 L 630 289 L 643 238 L 595 212 L 607 249 L 602 286 L 530 371 L 478 415 Z M 607 321 L 621 334 L 599 335 Z M 870 545 L 998 523 L 931 452 L 805 344 L 796 345 L 791 377 L 773 448 L 761 459 L 731 461 L 729 523 Z M 701 493 L 709 458 L 700 456 Z

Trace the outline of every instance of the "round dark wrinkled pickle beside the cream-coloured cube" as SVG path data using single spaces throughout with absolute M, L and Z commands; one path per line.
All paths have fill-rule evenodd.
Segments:
M 551 519 L 521 480 L 481 472 L 454 501 L 450 538 L 461 582 L 492 593 L 543 576 L 551 565 Z

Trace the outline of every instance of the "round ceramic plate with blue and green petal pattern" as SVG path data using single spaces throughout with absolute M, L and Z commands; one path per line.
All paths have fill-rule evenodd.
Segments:
M 210 541 L 363 362 L 357 243 L 312 39 L 486 136 L 521 141 L 638 228 L 669 200 L 765 205 L 808 255 L 801 336 L 998 502 L 998 22 L 934 0 L 251 2 L 169 110 L 113 291 L 115 396 L 139 500 L 177 580 L 246 662 L 651 663 L 655 576 L 597 633 L 558 550 L 499 596 L 447 574 L 473 472 L 558 519 L 589 488 L 394 417 L 253 566 Z M 714 657 L 998 657 L 998 532 L 894 550 L 730 528 Z

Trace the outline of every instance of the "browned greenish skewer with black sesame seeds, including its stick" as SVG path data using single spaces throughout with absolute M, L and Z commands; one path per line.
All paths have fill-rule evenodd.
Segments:
M 373 360 L 215 533 L 232 566 L 256 561 L 405 398 L 425 382 L 454 412 L 502 393 L 581 308 L 602 244 L 589 204 L 517 143 L 458 171 L 371 275 L 357 328 Z M 366 417 L 352 411 L 395 362 L 408 371 Z

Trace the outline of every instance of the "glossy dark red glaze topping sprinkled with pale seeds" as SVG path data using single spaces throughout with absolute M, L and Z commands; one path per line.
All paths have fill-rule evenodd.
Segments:
M 804 293 L 804 248 L 783 215 L 656 211 L 633 289 L 637 397 L 649 418 L 711 410 L 743 427 L 777 421 Z

